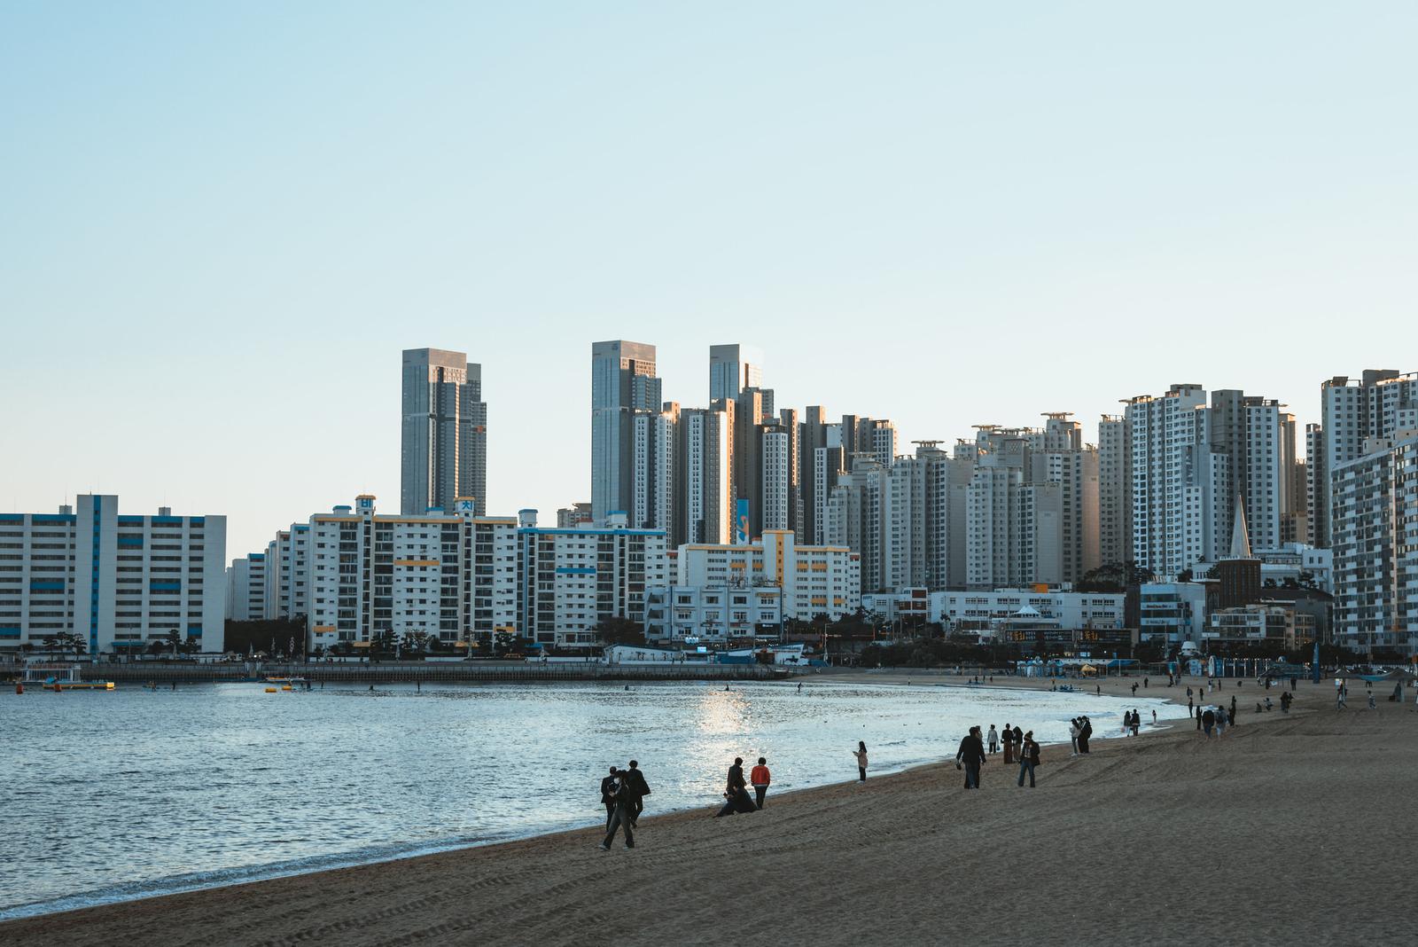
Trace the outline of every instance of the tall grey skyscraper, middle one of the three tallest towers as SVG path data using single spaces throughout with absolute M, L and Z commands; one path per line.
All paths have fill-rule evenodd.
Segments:
M 637 411 L 659 411 L 655 346 L 591 343 L 591 516 L 630 515 L 635 505 Z

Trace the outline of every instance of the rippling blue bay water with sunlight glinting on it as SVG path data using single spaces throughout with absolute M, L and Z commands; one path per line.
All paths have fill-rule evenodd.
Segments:
M 810 680 L 121 688 L 0 695 L 0 919 L 604 824 L 600 780 L 637 758 L 647 815 L 722 802 L 735 756 L 773 792 L 954 756 L 971 724 L 1041 743 L 1161 700 Z M 868 775 L 871 775 L 871 773 Z M 771 805 L 771 794 L 770 794 Z

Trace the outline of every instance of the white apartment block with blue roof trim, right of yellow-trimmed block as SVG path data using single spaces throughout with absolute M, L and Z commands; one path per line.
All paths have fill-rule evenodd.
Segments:
M 662 529 L 631 529 L 625 513 L 598 525 L 542 529 L 536 510 L 516 522 L 516 628 L 539 648 L 591 651 L 597 625 L 645 624 L 651 588 L 669 584 Z

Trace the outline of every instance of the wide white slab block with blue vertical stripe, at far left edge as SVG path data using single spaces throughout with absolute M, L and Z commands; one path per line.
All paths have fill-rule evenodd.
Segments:
M 57 513 L 0 513 L 0 652 L 72 635 L 91 656 L 176 637 L 220 652 L 227 517 L 118 512 L 81 493 Z

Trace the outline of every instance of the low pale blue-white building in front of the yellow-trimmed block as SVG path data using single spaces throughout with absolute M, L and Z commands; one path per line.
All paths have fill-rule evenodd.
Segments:
M 783 634 L 777 585 L 659 585 L 645 605 L 645 639 L 683 645 Z

